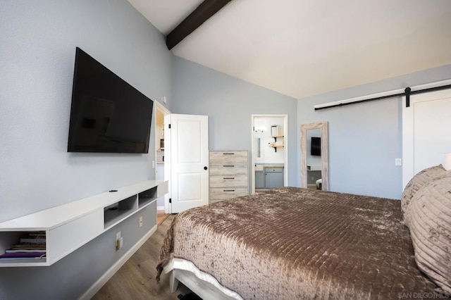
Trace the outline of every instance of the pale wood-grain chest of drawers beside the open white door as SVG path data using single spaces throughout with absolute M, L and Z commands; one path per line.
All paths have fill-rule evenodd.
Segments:
M 249 194 L 248 170 L 247 151 L 210 151 L 210 203 Z

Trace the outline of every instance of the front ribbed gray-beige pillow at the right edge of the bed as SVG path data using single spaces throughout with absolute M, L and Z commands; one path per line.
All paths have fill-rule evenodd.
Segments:
M 451 177 L 421 187 L 409 207 L 418 268 L 451 294 Z

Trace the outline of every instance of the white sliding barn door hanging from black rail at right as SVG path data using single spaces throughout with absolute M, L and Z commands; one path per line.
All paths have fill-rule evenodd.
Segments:
M 416 173 L 451 152 L 451 89 L 410 96 L 402 108 L 402 189 Z

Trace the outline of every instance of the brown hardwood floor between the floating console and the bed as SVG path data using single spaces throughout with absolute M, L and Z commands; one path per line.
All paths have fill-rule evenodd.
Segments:
M 169 276 L 161 275 L 156 284 L 156 261 L 163 239 L 175 215 L 163 215 L 162 223 L 138 251 L 101 287 L 92 299 L 178 299 L 178 294 L 190 292 L 181 283 L 175 293 L 169 292 Z M 157 221 L 158 223 L 159 221 Z

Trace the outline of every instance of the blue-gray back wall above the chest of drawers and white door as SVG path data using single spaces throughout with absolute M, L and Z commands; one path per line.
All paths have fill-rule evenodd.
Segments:
M 174 57 L 173 113 L 209 116 L 209 149 L 251 151 L 252 114 L 288 115 L 288 185 L 299 186 L 297 100 L 178 56 Z

